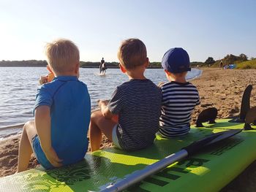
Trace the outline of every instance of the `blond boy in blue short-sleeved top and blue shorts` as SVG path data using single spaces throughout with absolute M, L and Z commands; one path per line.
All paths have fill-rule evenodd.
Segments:
M 23 127 L 18 172 L 28 169 L 31 153 L 45 169 L 73 164 L 88 148 L 91 116 L 88 89 L 79 77 L 79 50 L 67 39 L 48 43 L 45 51 L 55 78 L 39 88 L 34 120 Z

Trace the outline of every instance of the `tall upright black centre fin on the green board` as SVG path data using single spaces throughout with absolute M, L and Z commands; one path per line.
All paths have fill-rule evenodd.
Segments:
M 242 97 L 241 110 L 240 110 L 239 118 L 230 120 L 230 122 L 232 122 L 232 123 L 245 123 L 246 114 L 250 110 L 249 100 L 250 100 L 250 97 L 251 97 L 251 93 L 252 93 L 252 85 L 248 85 L 245 88 L 244 94 L 243 94 L 243 97 Z

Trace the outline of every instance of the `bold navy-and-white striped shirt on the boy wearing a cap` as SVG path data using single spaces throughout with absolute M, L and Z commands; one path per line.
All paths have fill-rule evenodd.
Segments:
M 162 137 L 185 135 L 190 130 L 190 120 L 200 98 L 195 85 L 190 82 L 167 82 L 162 85 L 162 114 L 159 134 Z

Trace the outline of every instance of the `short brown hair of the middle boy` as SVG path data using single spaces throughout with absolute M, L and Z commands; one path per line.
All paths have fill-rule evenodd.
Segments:
M 121 43 L 117 56 L 120 64 L 125 69 L 135 69 L 137 66 L 142 66 L 146 62 L 146 46 L 140 39 L 126 39 Z

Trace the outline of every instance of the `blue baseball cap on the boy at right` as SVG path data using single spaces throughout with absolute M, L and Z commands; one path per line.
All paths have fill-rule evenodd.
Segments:
M 167 50 L 165 55 L 162 57 L 162 68 L 171 73 L 181 73 L 191 71 L 189 54 L 187 51 L 175 47 Z

